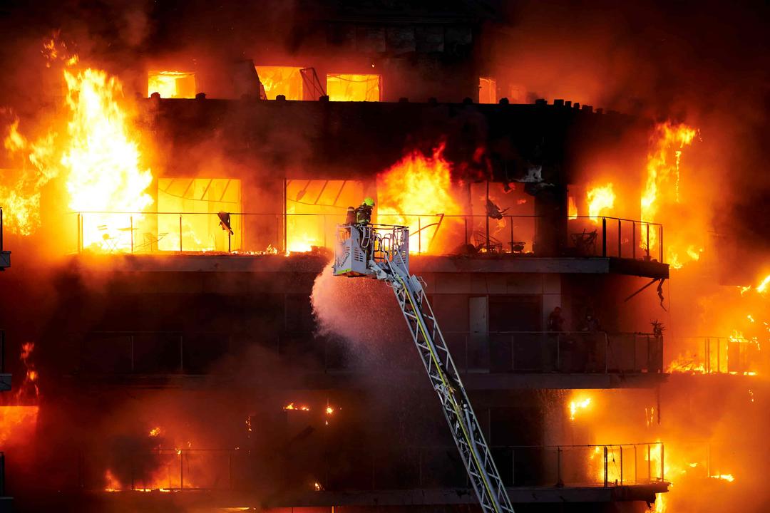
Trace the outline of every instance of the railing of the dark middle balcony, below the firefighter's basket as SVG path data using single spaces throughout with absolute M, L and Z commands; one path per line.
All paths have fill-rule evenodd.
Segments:
M 464 373 L 663 371 L 663 340 L 645 333 L 449 331 L 444 338 L 457 368 Z M 314 363 L 302 360 L 310 371 L 346 371 L 366 365 L 349 358 L 343 342 L 315 337 L 311 332 L 276 333 L 263 338 L 262 343 L 279 357 L 314 355 Z M 232 344 L 231 335 L 219 332 L 95 331 L 80 342 L 78 368 L 93 375 L 206 375 L 216 361 L 232 351 Z M 412 363 L 398 361 L 393 365 L 410 370 Z

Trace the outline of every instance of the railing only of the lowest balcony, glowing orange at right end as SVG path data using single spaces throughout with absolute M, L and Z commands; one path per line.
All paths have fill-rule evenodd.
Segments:
M 665 481 L 661 442 L 493 445 L 490 449 L 508 487 L 614 487 Z M 307 491 L 470 488 L 456 451 L 448 445 L 405 446 L 390 451 L 374 448 L 357 453 L 356 465 L 350 465 L 349 453 L 319 448 L 321 457 L 295 461 L 292 468 L 282 471 L 305 476 L 305 481 L 297 478 L 293 485 Z M 95 491 L 253 490 L 255 482 L 264 480 L 255 481 L 256 475 L 276 474 L 269 471 L 269 460 L 248 449 L 100 452 L 84 455 L 79 461 L 79 483 Z M 105 478 L 107 471 L 109 479 Z

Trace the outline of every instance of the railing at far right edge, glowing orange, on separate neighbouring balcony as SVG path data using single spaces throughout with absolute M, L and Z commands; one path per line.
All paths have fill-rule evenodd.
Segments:
M 683 337 L 671 348 L 667 371 L 689 374 L 755 375 L 768 368 L 758 341 L 743 337 Z

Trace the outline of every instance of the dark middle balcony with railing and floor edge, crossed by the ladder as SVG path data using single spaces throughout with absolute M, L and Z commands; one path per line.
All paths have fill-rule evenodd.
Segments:
M 663 341 L 651 334 L 447 332 L 444 338 L 470 390 L 639 388 L 657 385 L 666 376 Z M 412 342 L 398 343 L 404 354 L 377 365 L 392 365 L 393 372 L 415 375 L 422 384 L 424 371 L 419 360 L 411 358 Z M 265 334 L 262 345 L 286 362 L 291 386 L 296 388 L 345 388 L 353 374 L 373 365 L 351 355 L 345 341 L 310 332 Z M 223 365 L 216 366 L 216 371 L 209 369 L 243 345 L 227 333 L 95 331 L 78 347 L 72 373 L 80 379 L 136 385 L 208 379 L 226 385 L 232 369 Z M 295 363 L 298 355 L 303 355 L 301 364 Z

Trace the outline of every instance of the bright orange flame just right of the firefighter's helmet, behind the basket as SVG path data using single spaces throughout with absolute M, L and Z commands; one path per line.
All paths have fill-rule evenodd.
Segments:
M 437 234 L 437 215 L 460 215 L 460 205 L 451 195 L 451 165 L 444 159 L 444 145 L 430 157 L 411 152 L 386 172 L 377 175 L 377 214 L 380 222 L 406 225 L 410 252 L 428 252 Z M 420 217 L 424 216 L 424 217 Z M 444 220 L 442 231 L 450 222 Z M 425 228 L 427 225 L 433 225 Z M 418 232 L 422 229 L 422 234 Z M 419 237 L 419 238 L 418 238 Z M 419 240 L 419 243 L 418 243 Z

